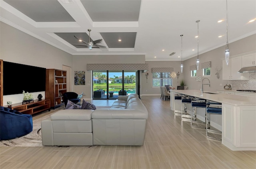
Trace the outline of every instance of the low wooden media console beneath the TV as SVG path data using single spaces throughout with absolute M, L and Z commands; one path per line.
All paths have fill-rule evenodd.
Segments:
M 8 107 L 8 106 L 4 106 Z M 12 104 L 12 110 L 17 110 L 18 112 L 21 112 L 23 114 L 36 114 L 43 112 L 45 110 L 50 111 L 50 99 L 42 99 L 42 100 L 34 100 L 32 103 L 22 104 L 22 103 L 16 103 Z

